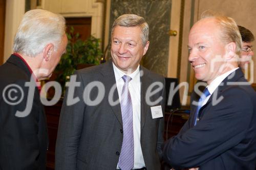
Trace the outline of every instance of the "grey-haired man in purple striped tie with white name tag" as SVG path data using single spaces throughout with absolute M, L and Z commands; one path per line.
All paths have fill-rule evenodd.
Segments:
M 112 61 L 76 71 L 60 113 L 56 170 L 160 169 L 164 78 L 139 65 L 148 31 L 140 16 L 118 17 Z

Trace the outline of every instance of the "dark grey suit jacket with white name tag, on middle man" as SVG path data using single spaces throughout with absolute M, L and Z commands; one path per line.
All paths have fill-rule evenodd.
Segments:
M 154 82 L 164 85 L 164 78 L 143 67 L 140 67 L 140 70 L 141 149 L 146 168 L 158 170 L 159 158 L 162 155 L 164 119 L 152 118 L 151 106 L 146 104 L 145 94 L 148 86 Z M 68 98 L 79 98 L 80 101 L 68 106 L 67 94 L 71 90 L 66 92 L 60 113 L 55 169 L 116 169 L 123 134 L 120 104 L 111 106 L 109 102 L 119 100 L 114 86 L 116 80 L 112 62 L 78 70 L 76 76 L 76 81 L 81 83 L 80 87 L 76 87 L 74 95 L 71 93 Z M 103 99 L 96 106 L 84 102 L 83 99 L 90 95 L 91 100 L 95 100 L 98 96 L 97 88 L 91 91 L 87 88 L 92 82 L 104 86 Z M 156 101 L 163 96 L 164 89 L 157 91 L 151 100 Z M 154 106 L 161 105 L 163 109 L 163 104 L 164 100 L 161 100 Z

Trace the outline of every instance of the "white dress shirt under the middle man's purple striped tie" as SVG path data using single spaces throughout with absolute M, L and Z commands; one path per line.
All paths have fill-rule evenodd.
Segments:
M 123 88 L 124 81 L 122 77 L 126 75 L 113 63 L 116 85 L 119 99 L 121 99 L 121 92 Z M 145 167 L 144 158 L 142 155 L 141 145 L 140 145 L 140 70 L 138 68 L 132 72 L 132 74 L 127 75 L 132 78 L 129 82 L 129 91 L 132 98 L 133 105 L 133 135 L 134 135 L 134 169 L 139 169 Z M 117 163 L 117 169 L 118 163 Z

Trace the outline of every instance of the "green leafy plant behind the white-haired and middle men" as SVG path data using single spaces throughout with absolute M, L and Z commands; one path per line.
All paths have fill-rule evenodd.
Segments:
M 62 91 L 65 90 L 66 82 L 69 81 L 70 76 L 78 69 L 79 65 L 98 65 L 102 56 L 100 39 L 90 36 L 83 41 L 79 38 L 79 33 L 74 34 L 73 27 L 71 27 L 70 33 L 67 33 L 67 37 L 67 52 L 61 57 L 56 67 L 58 73 L 56 80 L 61 84 Z

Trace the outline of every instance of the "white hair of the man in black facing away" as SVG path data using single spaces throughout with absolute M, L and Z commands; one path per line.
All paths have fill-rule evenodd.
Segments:
M 59 14 L 35 9 L 25 13 L 14 37 L 13 52 L 35 57 L 48 43 L 56 51 L 66 32 L 65 18 Z

